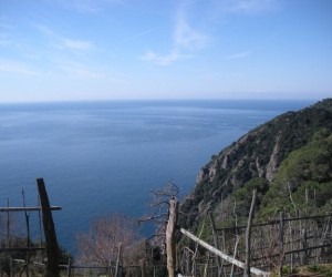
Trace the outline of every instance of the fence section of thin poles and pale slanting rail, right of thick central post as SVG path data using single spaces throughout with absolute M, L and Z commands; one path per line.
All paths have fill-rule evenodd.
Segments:
M 224 228 L 216 228 L 209 214 L 209 243 L 180 228 L 196 244 L 183 247 L 180 270 L 186 276 L 268 276 L 271 271 L 282 276 L 286 268 L 291 273 L 301 265 L 332 261 L 332 214 L 291 218 L 280 213 L 278 219 L 252 224 L 252 211 L 253 205 L 247 225 Z

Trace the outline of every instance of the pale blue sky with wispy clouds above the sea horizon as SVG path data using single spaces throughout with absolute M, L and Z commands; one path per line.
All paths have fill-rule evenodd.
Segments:
M 0 102 L 328 96 L 331 0 L 0 1 Z

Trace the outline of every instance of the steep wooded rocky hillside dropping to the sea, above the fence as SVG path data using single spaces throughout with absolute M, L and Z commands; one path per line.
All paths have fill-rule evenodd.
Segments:
M 273 214 L 286 202 L 289 205 L 289 189 L 299 203 L 304 187 L 317 188 L 323 197 L 332 191 L 331 133 L 332 99 L 256 127 L 200 170 L 194 191 L 181 203 L 181 223 L 193 227 L 207 211 L 230 213 L 231 199 L 245 205 L 253 187 L 261 215 Z M 319 205 L 324 207 L 329 199 L 325 194 Z

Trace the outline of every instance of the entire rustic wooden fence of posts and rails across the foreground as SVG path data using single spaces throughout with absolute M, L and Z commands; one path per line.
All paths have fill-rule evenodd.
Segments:
M 332 261 L 332 214 L 311 215 L 291 218 L 280 213 L 278 219 L 255 223 L 253 209 L 256 192 L 253 192 L 249 217 L 246 225 L 216 228 L 215 219 L 209 214 L 210 242 L 200 239 L 178 226 L 178 202 L 172 198 L 166 227 L 167 265 L 147 265 L 143 259 L 137 266 L 121 265 L 120 259 L 110 267 L 77 266 L 69 263 L 60 265 L 59 246 L 52 211 L 61 207 L 51 206 L 43 179 L 38 179 L 41 205 L 37 207 L 0 207 L 7 213 L 8 224 L 11 212 L 42 212 L 42 225 L 45 248 L 29 244 L 29 220 L 27 220 L 27 247 L 13 247 L 8 236 L 7 244 L 0 246 L 0 254 L 22 252 L 25 259 L 11 259 L 20 275 L 17 276 L 269 276 L 271 271 L 283 275 L 284 265 L 290 271 L 299 265 Z M 8 228 L 9 229 L 9 228 Z M 189 242 L 181 249 L 177 246 L 177 232 Z M 46 252 L 46 260 L 37 263 L 29 260 L 29 252 Z M 118 254 L 118 257 L 121 254 Z M 11 270 L 13 273 L 13 270 Z M 24 273 L 25 275 L 22 275 Z M 0 274 L 1 273 L 0 267 Z M 14 275 L 11 275 L 14 276 Z

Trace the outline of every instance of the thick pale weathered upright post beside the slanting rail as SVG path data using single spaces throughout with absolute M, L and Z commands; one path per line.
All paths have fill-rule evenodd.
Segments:
M 178 202 L 176 197 L 169 201 L 168 223 L 166 227 L 166 253 L 167 253 L 167 270 L 169 277 L 175 277 L 176 266 L 176 245 L 175 245 L 175 229 L 178 215 Z

